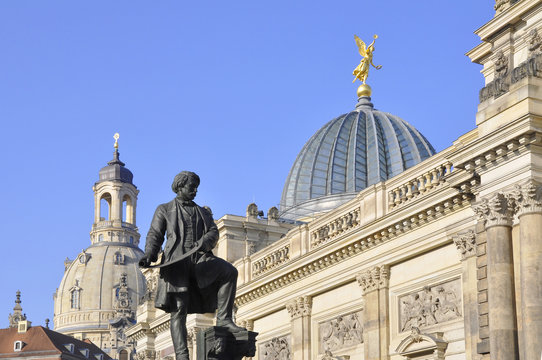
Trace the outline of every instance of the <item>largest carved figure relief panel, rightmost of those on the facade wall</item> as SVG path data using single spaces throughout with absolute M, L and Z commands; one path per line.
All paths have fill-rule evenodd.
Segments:
M 461 281 L 426 286 L 420 291 L 399 297 L 399 328 L 423 328 L 462 316 Z

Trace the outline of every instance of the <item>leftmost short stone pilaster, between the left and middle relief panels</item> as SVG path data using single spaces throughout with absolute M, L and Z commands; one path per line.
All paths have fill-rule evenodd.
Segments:
M 292 358 L 311 360 L 311 311 L 312 297 L 300 296 L 286 304 L 292 318 Z

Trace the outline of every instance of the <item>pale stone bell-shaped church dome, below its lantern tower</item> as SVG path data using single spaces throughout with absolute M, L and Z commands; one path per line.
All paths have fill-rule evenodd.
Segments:
M 55 330 L 107 330 L 119 311 L 135 310 L 146 289 L 145 276 L 138 267 L 142 256 L 136 245 L 104 241 L 68 261 L 55 293 Z M 123 284 L 128 288 L 126 303 L 121 303 L 118 295 Z

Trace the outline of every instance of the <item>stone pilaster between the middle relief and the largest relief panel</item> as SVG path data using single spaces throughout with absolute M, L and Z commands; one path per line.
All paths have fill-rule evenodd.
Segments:
M 389 359 L 389 266 L 375 266 L 357 276 L 363 290 L 365 360 Z

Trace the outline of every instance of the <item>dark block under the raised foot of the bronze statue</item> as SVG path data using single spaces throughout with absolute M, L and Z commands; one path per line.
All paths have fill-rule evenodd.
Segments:
M 256 354 L 253 331 L 231 333 L 226 328 L 213 326 L 197 334 L 197 360 L 240 360 Z

